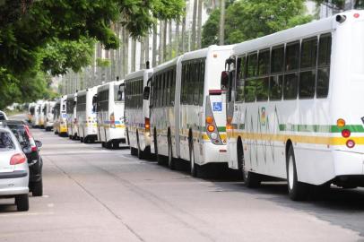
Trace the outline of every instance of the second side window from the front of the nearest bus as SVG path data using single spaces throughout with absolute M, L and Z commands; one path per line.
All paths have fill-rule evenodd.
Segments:
M 247 56 L 247 80 L 245 82 L 244 96 L 246 102 L 256 100 L 256 69 L 257 69 L 257 53 Z

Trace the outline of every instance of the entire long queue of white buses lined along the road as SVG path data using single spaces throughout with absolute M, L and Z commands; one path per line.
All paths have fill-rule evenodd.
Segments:
M 364 186 L 363 19 L 363 11 L 338 13 L 188 52 L 30 104 L 30 123 L 50 122 L 55 134 L 108 149 L 126 143 L 132 155 L 169 169 L 185 160 L 194 177 L 225 164 L 247 187 L 287 180 L 295 201 L 331 184 Z

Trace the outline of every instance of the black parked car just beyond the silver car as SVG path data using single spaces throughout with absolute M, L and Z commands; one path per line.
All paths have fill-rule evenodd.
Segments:
M 28 159 L 30 178 L 29 178 L 29 188 L 33 196 L 43 195 L 43 181 L 42 181 L 42 168 L 43 160 L 39 155 L 39 148 L 42 143 L 35 141 L 33 136 L 30 134 L 29 126 L 18 120 L 6 120 L 5 124 L 12 130 L 18 142 L 21 144 Z

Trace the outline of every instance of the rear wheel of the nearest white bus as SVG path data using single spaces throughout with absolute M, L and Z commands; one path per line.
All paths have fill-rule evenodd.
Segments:
M 297 177 L 296 159 L 292 145 L 287 152 L 287 186 L 290 199 L 293 201 L 305 200 L 308 196 L 308 185 L 301 183 Z

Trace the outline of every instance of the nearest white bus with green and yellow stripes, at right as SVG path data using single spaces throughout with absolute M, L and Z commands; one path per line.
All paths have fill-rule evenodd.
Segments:
M 238 44 L 228 59 L 228 151 L 249 187 L 288 180 L 292 200 L 309 185 L 364 186 L 364 12 Z

